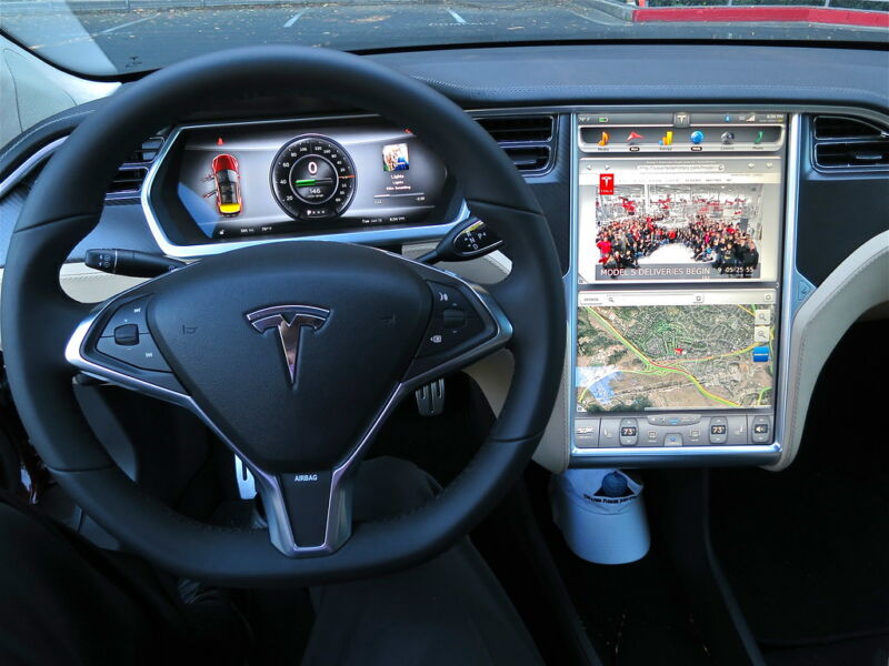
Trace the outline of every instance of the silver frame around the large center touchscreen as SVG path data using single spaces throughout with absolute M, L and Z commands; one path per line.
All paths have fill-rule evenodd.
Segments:
M 580 123 L 578 118 L 582 113 L 619 113 L 626 111 L 632 112 L 675 112 L 676 107 L 607 107 L 596 109 L 576 109 L 571 118 L 571 248 L 570 248 L 570 270 L 566 275 L 566 295 L 568 299 L 569 312 L 569 353 L 566 367 L 566 397 L 563 408 L 568 411 L 568 437 L 571 453 L 572 465 L 606 465 L 606 464 L 645 464 L 647 461 L 653 464 L 660 464 L 665 460 L 690 460 L 689 456 L 725 456 L 727 458 L 736 458 L 739 462 L 747 463 L 767 463 L 777 460 L 781 453 L 781 440 L 783 433 L 783 414 L 785 414 L 785 396 L 787 394 L 787 377 L 788 377 L 788 346 L 791 336 L 793 301 L 792 293 L 795 284 L 798 280 L 796 274 L 796 265 L 793 262 L 796 251 L 796 192 L 799 169 L 799 115 L 798 113 L 787 112 L 780 108 L 758 108 L 755 105 L 746 107 L 743 109 L 726 109 L 725 107 L 715 105 L 691 105 L 683 107 L 683 111 L 717 111 L 717 112 L 741 112 L 741 111 L 762 111 L 762 112 L 781 112 L 786 114 L 786 133 L 785 143 L 782 149 L 782 185 L 780 192 L 779 205 L 779 223 L 781 225 L 779 238 L 779 252 L 778 252 L 778 280 L 773 284 L 777 292 L 778 317 L 776 320 L 776 357 L 775 357 L 775 374 L 772 379 L 772 401 L 769 407 L 750 407 L 750 408 L 732 408 L 726 410 L 725 414 L 756 414 L 767 413 L 772 417 L 772 433 L 773 438 L 771 443 L 767 444 L 743 444 L 743 445 L 706 445 L 706 446 L 689 446 L 689 447 L 650 447 L 643 446 L 642 443 L 635 447 L 627 448 L 582 448 L 578 447 L 575 443 L 576 423 L 578 421 L 576 407 L 576 373 L 577 373 L 577 329 L 578 329 L 578 294 L 579 280 L 578 280 L 578 252 L 579 252 L 579 204 L 580 204 L 580 158 L 587 157 L 581 153 L 579 129 Z M 630 157 L 630 155 L 623 155 Z M 712 155 L 701 155 L 702 158 L 712 158 Z M 615 155 L 615 159 L 620 159 L 620 155 Z M 745 281 L 747 282 L 747 281 Z M 687 289 L 706 289 L 707 282 L 703 283 L 683 283 Z M 715 283 L 720 284 L 720 283 Z M 643 291 L 652 286 L 652 283 L 635 283 L 623 286 L 626 291 Z M 676 283 L 663 283 L 665 289 L 672 289 L 680 286 Z M 751 284 L 743 285 L 745 287 L 766 287 L 772 284 L 763 284 L 762 282 L 751 281 Z M 722 283 L 722 289 L 726 284 Z M 740 285 L 739 285 L 740 289 Z M 658 413 L 663 413 L 659 411 Z M 700 408 L 677 408 L 670 410 L 670 413 L 693 413 L 707 414 L 707 410 Z M 602 412 L 600 417 L 640 417 L 648 414 L 640 412 Z

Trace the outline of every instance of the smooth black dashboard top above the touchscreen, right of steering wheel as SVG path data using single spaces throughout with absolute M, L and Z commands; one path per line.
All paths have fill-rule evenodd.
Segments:
M 393 53 L 382 63 L 465 104 L 776 102 L 886 109 L 886 50 L 608 44 Z

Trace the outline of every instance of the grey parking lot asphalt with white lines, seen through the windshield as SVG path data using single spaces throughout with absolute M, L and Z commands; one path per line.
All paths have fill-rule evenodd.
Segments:
M 34 3 L 39 4 L 39 3 Z M 119 71 L 254 43 L 342 50 L 423 44 L 601 39 L 627 23 L 582 2 L 322 2 L 67 12 L 0 4 L 3 28 L 23 46 L 62 60 L 92 41 Z M 74 20 L 76 19 L 76 20 Z

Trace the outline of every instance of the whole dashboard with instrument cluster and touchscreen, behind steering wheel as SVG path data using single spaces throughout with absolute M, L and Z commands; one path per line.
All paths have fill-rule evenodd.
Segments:
M 889 301 L 889 158 L 829 162 L 886 143 L 886 53 L 602 46 L 372 58 L 469 110 L 550 222 L 570 340 L 538 462 L 790 464 L 825 360 Z M 693 83 L 667 82 L 689 68 Z M 78 117 L 50 122 L 9 169 L 0 154 L 4 220 L 27 196 L 34 155 Z M 159 135 L 157 154 L 134 165 L 144 180 L 109 194 L 70 270 L 89 248 L 191 260 L 281 239 L 418 256 L 469 216 L 421 138 L 354 109 L 233 100 Z M 0 260 L 10 231 L 0 225 Z M 501 250 L 448 268 L 502 279 Z M 498 363 L 471 372 L 495 410 L 509 374 Z

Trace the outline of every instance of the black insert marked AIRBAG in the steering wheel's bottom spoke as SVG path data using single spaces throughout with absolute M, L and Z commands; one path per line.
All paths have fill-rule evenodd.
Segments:
M 290 473 L 279 478 L 293 542 L 303 548 L 323 545 L 332 473 Z

